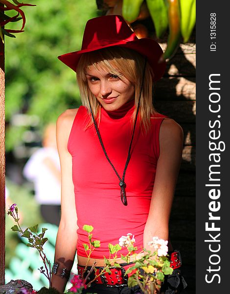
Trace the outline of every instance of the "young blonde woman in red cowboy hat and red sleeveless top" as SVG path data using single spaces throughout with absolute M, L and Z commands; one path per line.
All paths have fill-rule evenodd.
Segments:
M 117 244 L 127 233 L 135 235 L 139 251 L 149 248 L 153 236 L 169 238 L 183 131 L 153 107 L 153 82 L 165 70 L 161 55 L 157 42 L 138 39 L 121 16 L 111 15 L 88 21 L 82 49 L 59 56 L 76 71 L 83 104 L 57 121 L 62 212 L 52 286 L 60 292 L 75 253 L 79 273 L 87 263 L 84 224 L 92 225 L 93 238 L 101 241 L 89 266 L 103 267 L 108 243 Z M 117 262 L 123 263 L 120 256 Z M 115 280 L 98 279 L 86 291 L 139 291 L 128 289 L 119 269 L 115 273 Z

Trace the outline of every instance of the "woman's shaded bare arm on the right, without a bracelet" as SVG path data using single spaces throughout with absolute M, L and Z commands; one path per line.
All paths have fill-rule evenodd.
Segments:
M 168 240 L 168 222 L 183 150 L 182 127 L 172 119 L 164 119 L 160 128 L 160 156 L 148 219 L 144 229 L 144 248 L 152 237 Z

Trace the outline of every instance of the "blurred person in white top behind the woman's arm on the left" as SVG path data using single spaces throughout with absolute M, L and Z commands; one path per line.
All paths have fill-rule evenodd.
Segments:
M 23 175 L 34 183 L 35 199 L 40 204 L 44 221 L 59 225 L 61 169 L 54 123 L 45 127 L 42 145 L 25 164 Z

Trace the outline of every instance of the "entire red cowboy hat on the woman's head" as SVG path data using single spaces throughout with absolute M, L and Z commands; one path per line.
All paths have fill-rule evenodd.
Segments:
M 89 20 L 85 27 L 81 50 L 60 55 L 58 59 L 76 72 L 83 53 L 112 46 L 133 49 L 146 56 L 153 69 L 154 81 L 163 75 L 165 61 L 159 62 L 163 54 L 160 45 L 153 39 L 138 39 L 120 15 L 100 16 Z

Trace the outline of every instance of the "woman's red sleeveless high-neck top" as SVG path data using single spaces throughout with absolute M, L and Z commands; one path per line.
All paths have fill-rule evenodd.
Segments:
M 101 107 L 99 131 L 106 152 L 122 177 L 132 137 L 131 115 L 134 102 L 122 109 L 107 112 Z M 84 224 L 94 227 L 93 240 L 101 246 L 92 252 L 92 258 L 109 257 L 108 244 L 118 244 L 127 233 L 135 235 L 139 251 L 143 247 L 143 232 L 149 213 L 157 161 L 160 153 L 159 131 L 165 116 L 151 118 L 148 134 L 137 122 L 131 149 L 131 160 L 125 174 L 128 205 L 120 199 L 119 180 L 105 157 L 94 125 L 86 128 L 89 114 L 80 106 L 69 135 L 68 150 L 72 155 L 72 179 L 77 212 L 77 254 L 86 257 L 83 244 L 88 244 Z M 126 255 L 126 247 L 119 254 Z

